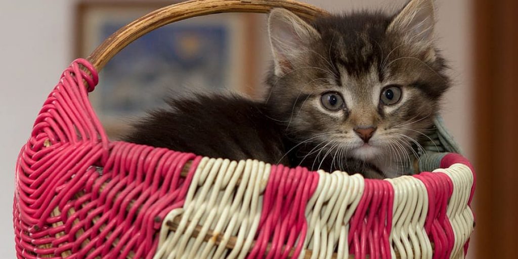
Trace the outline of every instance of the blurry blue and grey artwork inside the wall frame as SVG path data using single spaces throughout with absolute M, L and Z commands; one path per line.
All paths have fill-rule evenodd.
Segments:
M 105 24 L 103 37 L 122 25 Z M 185 87 L 227 88 L 228 30 L 218 24 L 171 24 L 137 39 L 104 68 L 100 109 L 138 114 L 156 108 L 157 98 L 180 94 Z

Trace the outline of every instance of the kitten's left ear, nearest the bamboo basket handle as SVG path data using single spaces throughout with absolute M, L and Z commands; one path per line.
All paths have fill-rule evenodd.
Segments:
M 297 60 L 307 55 L 303 52 L 309 50 L 309 44 L 320 38 L 315 28 L 293 12 L 281 8 L 270 12 L 268 33 L 277 76 L 292 70 Z

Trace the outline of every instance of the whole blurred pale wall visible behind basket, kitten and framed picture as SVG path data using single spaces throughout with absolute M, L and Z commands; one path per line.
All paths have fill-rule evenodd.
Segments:
M 113 2 L 113 1 L 112 1 Z M 125 1 L 116 1 L 124 3 Z M 405 0 L 313 0 L 307 1 L 332 11 L 352 8 L 401 7 Z M 454 88 L 444 101 L 443 116 L 452 134 L 473 159 L 473 1 L 437 0 L 439 46 L 452 66 Z M 0 1 L 0 257 L 14 258 L 12 196 L 15 162 L 20 147 L 30 135 L 32 123 L 62 70 L 75 58 L 76 1 Z M 264 20 L 265 16 L 262 16 Z M 266 39 L 258 34 L 257 42 Z M 259 48 L 261 49 L 260 45 Z M 269 53 L 262 48 L 265 66 Z M 103 79 L 101 78 L 101 81 Z M 473 248 L 475 243 L 471 245 Z M 471 256 L 474 254 L 471 253 Z M 474 257 L 471 257 L 474 258 Z

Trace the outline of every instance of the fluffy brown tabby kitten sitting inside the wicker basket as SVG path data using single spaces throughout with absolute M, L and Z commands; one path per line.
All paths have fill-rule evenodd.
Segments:
M 434 19 L 432 0 L 411 0 L 392 17 L 358 12 L 313 22 L 274 9 L 264 102 L 171 99 L 171 109 L 153 112 L 125 140 L 368 178 L 409 174 L 449 88 Z

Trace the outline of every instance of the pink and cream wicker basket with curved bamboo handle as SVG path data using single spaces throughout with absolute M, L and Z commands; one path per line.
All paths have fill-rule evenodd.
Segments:
M 387 180 L 107 139 L 87 92 L 118 51 L 175 21 L 273 7 L 307 19 L 326 13 L 292 1 L 190 1 L 138 19 L 74 61 L 20 152 L 18 257 L 464 257 L 474 175 L 439 118 L 416 163 L 423 172 Z

